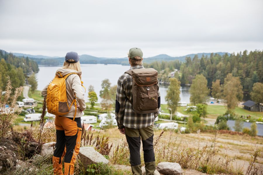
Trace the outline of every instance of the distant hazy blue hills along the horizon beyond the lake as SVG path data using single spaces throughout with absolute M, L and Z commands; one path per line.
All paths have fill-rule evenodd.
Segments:
M 173 61 L 179 60 L 184 62 L 185 57 L 193 58 L 195 55 L 198 57 L 210 56 L 211 53 L 197 53 L 197 54 L 189 54 L 181 57 L 171 57 L 166 54 L 156 55 L 154 57 L 143 58 L 145 63 L 151 63 L 154 61 Z M 214 53 L 216 54 L 216 53 Z M 217 52 L 219 55 L 229 54 L 226 52 Z M 23 53 L 13 53 L 13 55 L 18 57 L 29 57 L 30 59 L 36 61 L 40 65 L 50 65 L 50 66 L 57 66 L 59 64 L 63 64 L 65 57 L 49 57 L 44 55 L 28 55 Z M 229 54 L 230 55 L 230 54 Z M 50 60 L 51 59 L 51 60 Z M 122 65 L 129 65 L 127 57 L 124 58 L 107 58 L 107 57 L 94 57 L 91 55 L 80 55 L 81 63 L 84 64 L 122 64 Z

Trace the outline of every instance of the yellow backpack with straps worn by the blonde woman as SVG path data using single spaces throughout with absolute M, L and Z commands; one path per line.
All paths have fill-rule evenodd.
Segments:
M 60 74 L 60 72 L 58 72 Z M 69 75 L 76 74 L 70 73 L 64 77 L 60 74 L 53 79 L 47 88 L 46 107 L 49 113 L 54 115 L 66 115 L 69 113 L 71 106 L 75 103 L 75 120 L 77 113 L 76 94 L 70 106 L 68 106 L 67 92 L 66 92 L 66 79 Z M 81 82 L 82 84 L 83 82 Z M 82 85 L 83 86 L 83 85 Z M 84 87 L 85 88 L 85 87 Z M 85 89 L 86 90 L 86 89 Z

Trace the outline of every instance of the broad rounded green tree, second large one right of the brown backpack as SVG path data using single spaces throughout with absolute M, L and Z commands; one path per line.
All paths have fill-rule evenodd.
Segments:
M 198 104 L 207 101 L 210 90 L 207 88 L 207 80 L 202 74 L 193 79 L 189 92 L 191 103 Z

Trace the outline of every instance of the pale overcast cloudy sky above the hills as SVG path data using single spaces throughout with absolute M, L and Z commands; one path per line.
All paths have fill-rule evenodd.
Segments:
M 0 49 L 63 57 L 263 50 L 262 0 L 0 0 Z

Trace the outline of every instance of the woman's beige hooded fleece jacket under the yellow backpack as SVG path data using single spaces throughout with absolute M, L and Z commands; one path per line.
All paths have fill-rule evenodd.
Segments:
M 68 105 L 70 106 L 70 104 L 72 103 L 75 95 L 77 97 L 77 106 L 79 106 L 79 108 L 77 108 L 77 113 L 76 113 L 76 117 L 81 117 L 84 115 L 84 110 L 86 109 L 86 104 L 85 104 L 85 97 L 84 97 L 84 92 L 82 90 L 82 86 L 81 86 L 81 81 L 79 76 L 81 75 L 82 72 L 78 72 L 75 70 L 71 70 L 71 69 L 62 69 L 59 68 L 56 72 L 60 72 L 62 76 L 65 76 L 69 73 L 77 73 L 77 74 L 71 74 L 70 76 L 68 76 L 68 78 L 66 79 L 66 91 L 67 91 L 67 98 L 68 98 Z M 60 75 L 59 75 L 60 76 Z M 52 81 L 49 82 L 49 84 Z M 41 94 L 46 98 L 47 96 L 47 88 L 48 85 L 46 85 L 46 87 L 42 90 Z M 82 112 L 80 112 L 80 109 L 82 110 Z M 68 114 L 63 115 L 65 117 L 71 117 L 73 118 L 75 114 L 75 106 L 74 104 L 71 106 L 70 111 Z

